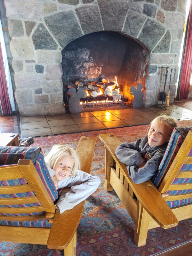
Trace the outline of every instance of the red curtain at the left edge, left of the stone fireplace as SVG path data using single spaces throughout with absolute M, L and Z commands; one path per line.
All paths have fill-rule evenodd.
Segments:
M 11 114 L 9 94 L 7 90 L 7 81 L 3 64 L 3 55 L 0 44 L 0 114 Z

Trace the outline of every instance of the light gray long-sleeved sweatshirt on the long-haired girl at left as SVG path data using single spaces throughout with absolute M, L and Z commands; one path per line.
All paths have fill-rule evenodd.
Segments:
M 47 168 L 51 177 L 55 171 L 47 164 Z M 61 193 L 56 205 L 59 207 L 60 213 L 72 209 L 75 205 L 81 203 L 90 196 L 100 185 L 100 179 L 89 173 L 77 170 L 75 176 L 67 177 L 58 181 L 58 190 L 65 187 L 71 187 L 67 193 Z

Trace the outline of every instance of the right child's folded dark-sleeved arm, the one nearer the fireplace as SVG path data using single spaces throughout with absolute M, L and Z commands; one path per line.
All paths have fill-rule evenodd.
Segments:
M 140 166 L 140 164 L 144 161 L 143 157 L 138 151 L 140 141 L 141 139 L 131 143 L 124 142 L 116 148 L 115 154 L 121 163 L 128 166 Z

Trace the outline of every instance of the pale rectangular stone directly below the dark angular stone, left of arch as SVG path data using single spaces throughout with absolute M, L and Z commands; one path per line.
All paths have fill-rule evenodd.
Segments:
M 39 63 L 60 63 L 61 59 L 61 51 L 36 51 L 36 61 Z

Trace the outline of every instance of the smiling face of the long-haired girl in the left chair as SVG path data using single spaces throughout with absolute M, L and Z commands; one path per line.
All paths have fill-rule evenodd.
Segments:
M 74 160 L 71 156 L 62 156 L 55 164 L 55 176 L 57 181 L 66 179 L 72 171 Z

